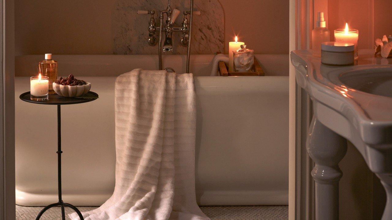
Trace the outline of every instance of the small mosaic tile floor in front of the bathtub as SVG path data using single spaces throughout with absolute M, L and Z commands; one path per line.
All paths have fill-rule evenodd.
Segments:
M 78 207 L 80 211 L 89 211 L 95 207 Z M 202 206 L 201 210 L 211 220 L 287 220 L 288 206 Z M 16 220 L 34 220 L 42 207 L 16 206 Z M 65 208 L 65 213 L 73 210 Z M 69 220 L 68 216 L 66 216 Z M 40 220 L 61 220 L 60 207 L 49 209 Z

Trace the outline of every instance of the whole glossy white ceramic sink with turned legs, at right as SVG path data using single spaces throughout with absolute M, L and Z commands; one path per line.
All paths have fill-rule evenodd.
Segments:
M 313 101 L 307 151 L 314 160 L 316 219 L 339 219 L 338 163 L 351 141 L 387 193 L 382 220 L 392 219 L 392 59 L 360 50 L 358 65 L 331 67 L 309 50 L 291 52 L 296 80 Z M 359 180 L 360 181 L 360 180 Z

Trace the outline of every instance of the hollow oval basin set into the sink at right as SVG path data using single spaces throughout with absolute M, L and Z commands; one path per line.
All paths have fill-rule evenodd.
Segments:
M 391 70 L 357 70 L 339 76 L 341 83 L 349 88 L 378 96 L 392 97 Z

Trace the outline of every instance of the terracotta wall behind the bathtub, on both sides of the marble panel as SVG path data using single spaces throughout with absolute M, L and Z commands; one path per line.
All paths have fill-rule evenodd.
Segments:
M 289 0 L 219 1 L 225 13 L 225 45 L 238 34 L 256 53 L 289 52 Z M 16 55 L 113 54 L 115 2 L 15 0 Z

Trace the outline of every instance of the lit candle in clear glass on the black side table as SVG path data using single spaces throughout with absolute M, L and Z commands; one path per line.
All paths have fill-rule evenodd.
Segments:
M 32 76 L 30 77 L 30 99 L 34 101 L 48 100 L 49 77 Z

